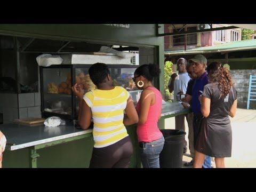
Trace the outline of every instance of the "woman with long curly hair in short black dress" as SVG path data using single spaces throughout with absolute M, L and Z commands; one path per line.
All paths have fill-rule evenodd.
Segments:
M 230 117 L 237 107 L 237 91 L 228 69 L 220 62 L 207 67 L 209 84 L 204 86 L 201 111 L 204 116 L 195 146 L 194 167 L 202 167 L 205 155 L 215 157 L 217 168 L 225 168 L 225 157 L 231 157 L 232 130 Z

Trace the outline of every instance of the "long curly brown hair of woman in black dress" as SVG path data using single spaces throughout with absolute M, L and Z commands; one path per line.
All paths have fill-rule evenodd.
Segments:
M 227 68 L 223 67 L 220 62 L 214 61 L 206 68 L 209 83 L 218 82 L 218 88 L 221 95 L 227 95 L 230 92 L 233 81 Z

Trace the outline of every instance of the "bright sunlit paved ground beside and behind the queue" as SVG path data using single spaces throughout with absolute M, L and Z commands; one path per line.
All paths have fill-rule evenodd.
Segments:
M 237 109 L 234 118 L 231 118 L 233 132 L 232 156 L 225 158 L 227 168 L 256 168 L 256 110 Z M 170 127 L 175 127 L 175 118 L 165 120 Z M 186 132 L 188 133 L 188 126 Z M 188 134 L 185 136 L 188 141 Z M 183 155 L 183 163 L 190 162 L 189 150 Z M 215 167 L 215 164 L 213 164 Z M 185 166 L 183 166 L 185 167 Z

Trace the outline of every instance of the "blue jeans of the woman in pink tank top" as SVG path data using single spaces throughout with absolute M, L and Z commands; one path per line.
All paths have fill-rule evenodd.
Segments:
M 159 155 L 164 147 L 164 137 L 151 142 L 139 142 L 143 168 L 160 168 Z

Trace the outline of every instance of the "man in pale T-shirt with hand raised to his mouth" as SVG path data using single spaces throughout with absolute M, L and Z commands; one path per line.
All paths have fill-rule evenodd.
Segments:
M 179 58 L 177 61 L 177 66 L 178 66 L 178 74 L 173 73 L 171 75 L 171 78 L 168 84 L 170 93 L 173 92 L 174 102 L 178 101 L 176 97 L 177 94 L 181 95 L 187 92 L 187 86 L 190 80 L 190 77 L 186 70 L 187 60 L 184 58 Z M 185 131 L 185 117 L 187 119 L 187 122 L 189 122 L 189 114 L 175 116 L 176 130 Z M 183 153 L 187 153 L 187 141 L 185 139 L 183 141 Z

